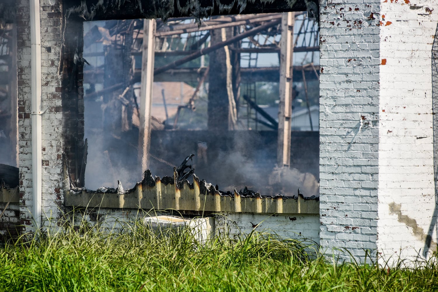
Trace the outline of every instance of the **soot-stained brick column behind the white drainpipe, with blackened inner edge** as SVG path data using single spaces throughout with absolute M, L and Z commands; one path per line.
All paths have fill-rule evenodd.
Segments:
M 30 11 L 27 0 L 17 2 L 18 30 L 18 131 L 21 224 L 32 230 L 32 134 Z M 64 21 L 61 0 L 41 0 L 42 67 L 42 217 L 63 217 L 63 159 L 74 159 L 83 145 L 82 66 L 74 67 L 74 53 L 82 56 L 82 23 Z M 66 33 L 67 32 L 67 33 Z M 71 152 L 74 154 L 72 155 Z M 81 159 L 81 158 L 79 158 Z M 47 222 L 43 226 L 47 226 Z

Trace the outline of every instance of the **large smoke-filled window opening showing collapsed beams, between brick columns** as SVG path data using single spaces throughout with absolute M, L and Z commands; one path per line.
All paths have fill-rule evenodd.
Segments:
M 319 35 L 294 15 L 290 165 L 278 163 L 282 14 L 157 20 L 148 169 L 194 173 L 221 191 L 318 196 Z M 143 21 L 84 23 L 85 186 L 141 180 Z M 231 40 L 231 42 L 230 42 Z M 224 44 L 226 45 L 224 46 Z M 213 48 L 213 49 L 212 49 Z M 207 52 L 207 53 L 205 53 Z M 185 62 L 180 62 L 185 60 Z

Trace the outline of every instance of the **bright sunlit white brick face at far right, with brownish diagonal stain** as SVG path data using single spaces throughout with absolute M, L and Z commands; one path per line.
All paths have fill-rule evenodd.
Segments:
M 377 243 L 383 262 L 436 251 L 431 51 L 438 1 L 383 1 L 379 19 Z

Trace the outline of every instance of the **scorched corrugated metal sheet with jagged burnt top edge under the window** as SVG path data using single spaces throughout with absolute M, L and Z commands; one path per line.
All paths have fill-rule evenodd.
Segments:
M 319 214 L 318 198 L 262 196 L 245 188 L 237 192 L 221 192 L 211 183 L 193 175 L 193 183 L 173 177 L 152 177 L 145 171 L 144 179 L 124 191 L 99 188 L 97 191 L 71 187 L 65 192 L 65 206 L 80 208 L 174 209 L 182 211 L 244 212 L 262 214 Z

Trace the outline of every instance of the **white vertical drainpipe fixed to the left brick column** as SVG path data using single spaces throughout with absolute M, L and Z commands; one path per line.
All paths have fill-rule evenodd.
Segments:
M 41 227 L 42 125 L 41 125 L 41 31 L 39 0 L 30 0 L 31 34 L 31 111 L 32 111 L 32 217 L 35 228 Z

